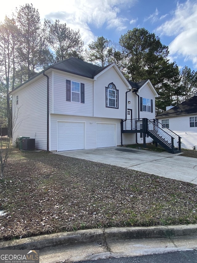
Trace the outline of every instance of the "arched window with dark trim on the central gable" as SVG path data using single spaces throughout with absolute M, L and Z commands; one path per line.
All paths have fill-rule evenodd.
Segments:
M 111 82 L 106 90 L 106 107 L 117 108 L 118 109 L 118 90 L 116 86 Z

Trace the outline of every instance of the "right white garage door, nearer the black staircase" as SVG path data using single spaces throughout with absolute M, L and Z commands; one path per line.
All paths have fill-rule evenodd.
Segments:
M 96 124 L 96 148 L 116 146 L 115 124 Z

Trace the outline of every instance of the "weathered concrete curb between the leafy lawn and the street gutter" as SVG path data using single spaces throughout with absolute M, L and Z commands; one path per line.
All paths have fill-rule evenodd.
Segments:
M 107 244 L 108 240 L 163 238 L 197 234 L 197 224 L 155 227 L 112 227 L 61 232 L 42 236 L 0 242 L 2 249 L 44 249 L 60 245 L 78 245 L 88 242 Z

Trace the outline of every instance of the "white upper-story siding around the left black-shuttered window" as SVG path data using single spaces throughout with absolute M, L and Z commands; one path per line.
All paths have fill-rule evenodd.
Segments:
M 75 102 L 77 98 L 76 97 L 74 98 L 74 94 L 73 94 L 73 98 L 71 94 L 71 101 L 66 101 L 66 80 L 70 80 L 71 85 L 72 82 L 84 84 L 85 103 Z M 80 96 L 79 96 L 79 100 L 80 100 Z M 78 116 L 93 116 L 93 80 L 79 77 L 73 74 L 54 71 L 54 112 L 53 113 L 78 115 Z

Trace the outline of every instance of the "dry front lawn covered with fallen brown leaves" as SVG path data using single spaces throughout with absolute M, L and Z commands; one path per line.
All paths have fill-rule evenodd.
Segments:
M 197 151 L 195 151 L 197 152 Z M 197 223 L 197 185 L 14 149 L 0 183 L 0 240 L 86 228 Z

